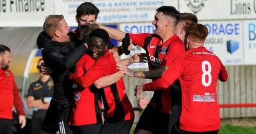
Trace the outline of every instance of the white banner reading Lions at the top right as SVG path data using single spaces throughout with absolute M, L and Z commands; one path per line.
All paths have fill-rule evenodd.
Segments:
M 195 13 L 199 20 L 255 19 L 256 0 L 180 0 L 180 12 Z

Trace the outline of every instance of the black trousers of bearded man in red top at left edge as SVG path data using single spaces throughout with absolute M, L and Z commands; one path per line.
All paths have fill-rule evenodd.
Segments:
M 1 134 L 12 133 L 12 119 L 0 119 L 0 133 Z

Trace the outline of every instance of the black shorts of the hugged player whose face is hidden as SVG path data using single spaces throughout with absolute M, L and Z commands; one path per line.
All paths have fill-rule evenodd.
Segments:
M 97 124 L 86 124 L 81 126 L 70 126 L 73 133 L 76 134 L 95 134 L 100 133 L 100 130 L 102 128 L 102 123 Z

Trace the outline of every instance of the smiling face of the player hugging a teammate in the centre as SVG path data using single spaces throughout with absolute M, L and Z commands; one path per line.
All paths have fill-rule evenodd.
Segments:
M 99 59 L 100 56 L 104 56 L 108 49 L 107 43 L 99 37 L 90 38 L 88 44 L 89 55 L 94 59 Z

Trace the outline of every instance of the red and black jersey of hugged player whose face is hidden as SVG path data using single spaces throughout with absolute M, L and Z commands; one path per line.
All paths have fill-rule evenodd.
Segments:
M 84 76 L 92 68 L 95 61 L 84 54 L 76 64 L 76 75 Z M 95 87 L 75 87 L 74 105 L 72 107 L 70 124 L 81 126 L 99 123 L 101 119 L 101 99 L 99 89 Z

